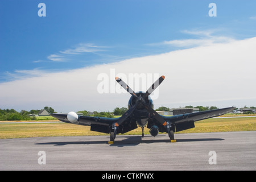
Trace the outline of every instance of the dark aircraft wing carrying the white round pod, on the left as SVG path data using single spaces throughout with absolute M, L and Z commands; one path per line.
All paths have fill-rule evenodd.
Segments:
M 68 114 L 50 114 L 52 117 L 59 119 L 65 123 L 72 123 L 77 125 L 90 126 L 90 130 L 98 131 L 102 133 L 109 133 L 109 127 L 112 126 L 114 122 L 117 122 L 119 118 L 105 118 L 105 117 L 90 117 L 90 116 L 79 116 L 76 122 L 71 122 L 68 120 Z

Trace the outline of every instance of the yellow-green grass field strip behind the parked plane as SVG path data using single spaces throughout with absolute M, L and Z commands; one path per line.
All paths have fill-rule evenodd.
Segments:
M 256 118 L 216 118 L 195 122 L 195 128 L 180 131 L 179 133 L 205 133 L 222 131 L 255 131 Z M 148 129 L 144 129 L 149 134 Z M 141 128 L 135 129 L 126 135 L 141 135 Z M 73 125 L 68 123 L 10 123 L 0 124 L 0 138 L 27 138 L 27 137 L 56 137 L 108 135 L 90 131 L 89 126 Z

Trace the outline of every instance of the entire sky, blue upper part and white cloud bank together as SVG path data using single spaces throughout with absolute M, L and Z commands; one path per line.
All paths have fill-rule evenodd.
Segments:
M 129 94 L 97 92 L 101 73 L 110 84 L 119 73 L 165 75 L 155 108 L 255 106 L 255 7 L 255 0 L 1 0 L 0 108 L 126 107 Z

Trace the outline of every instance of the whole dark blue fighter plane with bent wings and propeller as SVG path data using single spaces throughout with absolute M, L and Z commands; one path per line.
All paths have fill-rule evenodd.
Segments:
M 128 102 L 128 110 L 119 118 L 79 116 L 73 111 L 68 114 L 51 115 L 66 123 L 90 126 L 91 131 L 110 134 L 110 141 L 112 142 L 114 142 L 117 134 L 123 134 L 137 129 L 138 126 L 142 128 L 142 137 L 144 137 L 144 127 L 147 127 L 150 129 L 150 134 L 153 137 L 158 135 L 159 132 L 166 132 L 172 141 L 174 140 L 175 132 L 195 127 L 195 121 L 216 117 L 235 109 L 235 107 L 226 107 L 223 109 L 180 114 L 170 117 L 159 115 L 153 109 L 150 94 L 162 83 L 164 78 L 164 76 L 159 77 L 146 93 L 135 93 L 121 78 L 115 77 L 115 80 L 131 94 Z

